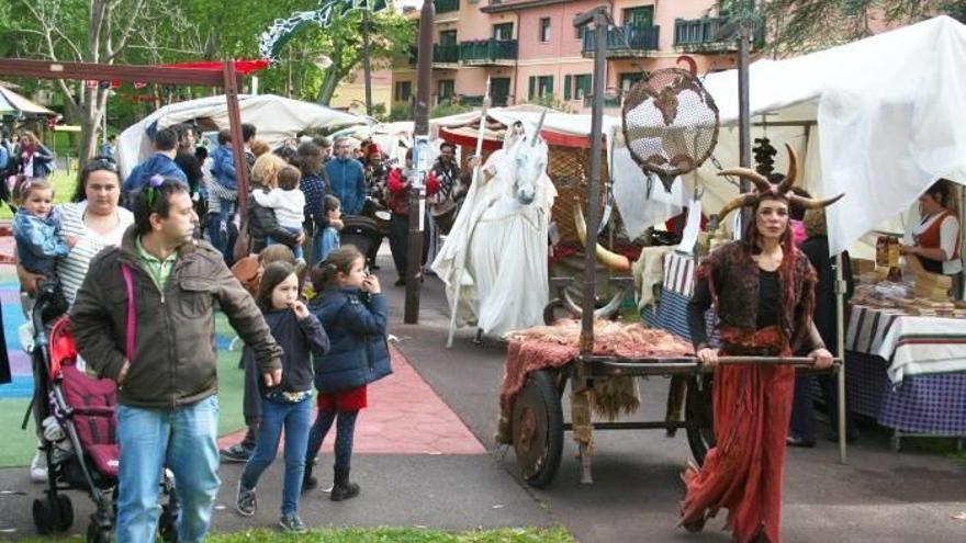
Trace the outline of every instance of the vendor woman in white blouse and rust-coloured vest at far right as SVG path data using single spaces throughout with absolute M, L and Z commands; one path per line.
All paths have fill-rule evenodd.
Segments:
M 963 261 L 959 259 L 959 220 L 948 210 L 952 183 L 940 179 L 919 196 L 919 224 L 912 227 L 916 245 L 900 248 L 902 254 L 916 254 L 925 271 L 953 279 L 950 293 L 958 298 Z

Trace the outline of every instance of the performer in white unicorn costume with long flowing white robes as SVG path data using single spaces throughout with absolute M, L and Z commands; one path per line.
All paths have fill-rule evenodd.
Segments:
M 530 133 L 512 133 L 512 147 L 490 155 L 433 262 L 450 307 L 458 297 L 458 315 L 481 335 L 540 325 L 549 301 L 547 236 L 557 189 L 539 125 Z M 529 199 L 521 197 L 528 186 Z

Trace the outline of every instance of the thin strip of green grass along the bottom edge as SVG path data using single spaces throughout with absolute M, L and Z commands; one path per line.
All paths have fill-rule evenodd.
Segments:
M 76 538 L 31 538 L 23 543 L 75 543 Z M 535 528 L 505 528 L 472 532 L 442 532 L 416 528 L 347 528 L 338 530 L 311 530 L 304 534 L 284 535 L 271 530 L 246 530 L 244 532 L 214 534 L 210 543 L 269 543 L 274 541 L 302 543 L 575 543 L 576 540 L 562 528 L 541 530 Z

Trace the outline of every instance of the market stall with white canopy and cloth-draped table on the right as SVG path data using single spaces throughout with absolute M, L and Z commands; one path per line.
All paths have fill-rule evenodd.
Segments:
M 853 257 L 869 257 L 875 242 L 867 234 L 905 230 L 897 217 L 936 179 L 966 184 L 966 80 L 953 77 L 963 71 L 964 55 L 966 26 L 940 16 L 823 52 L 752 64 L 753 137 L 791 145 L 813 196 L 845 193 L 828 212 L 832 253 L 849 249 Z M 737 78 L 730 70 L 704 79 L 720 110 L 718 163 L 732 163 L 738 155 Z M 775 158 L 782 171 L 785 157 Z M 738 192 L 719 181 L 718 171 L 711 161 L 687 179 L 704 194 L 706 208 Z M 666 293 L 655 318 L 673 315 L 666 306 L 679 305 L 681 296 Z M 964 375 L 957 373 L 966 370 L 966 320 L 955 312 L 921 315 L 935 302 L 923 297 L 909 296 L 905 307 L 855 306 L 845 315 L 852 408 L 892 428 L 897 444 L 910 433 L 966 434 Z

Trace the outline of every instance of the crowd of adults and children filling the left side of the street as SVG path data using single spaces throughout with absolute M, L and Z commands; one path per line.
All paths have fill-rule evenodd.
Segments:
M 151 539 L 164 468 L 178 482 L 179 541 L 204 538 L 221 462 L 246 463 L 236 510 L 252 514 L 258 480 L 282 434 L 283 530 L 305 530 L 300 497 L 317 486 L 315 456 L 333 426 L 329 497 L 360 491 L 349 479 L 355 421 L 367 406 L 367 385 L 392 369 L 379 280 L 366 254 L 341 246 L 339 230 L 342 211 L 385 205 L 389 178 L 409 172 L 390 168 L 375 145 L 364 147 L 360 161 L 347 138 L 303 138 L 270 150 L 256 132 L 246 125 L 245 140 L 233 145 L 223 131 L 209 156 L 192 126 L 159 129 L 154 152 L 125 179 L 112 156 L 98 156 L 80 170 L 72 202 L 59 205 L 38 174 L 48 171 L 45 149 L 24 134 L 14 151 L 26 165 L 14 173 L 12 194 L 22 289 L 34 296 L 55 284 L 57 315 L 69 315 L 87 371 L 117 384 L 117 541 Z M 235 152 L 244 154 L 250 179 L 245 217 Z M 240 253 L 238 244 L 247 244 Z M 306 293 L 314 294 L 307 304 Z M 243 406 L 225 407 L 243 409 L 249 434 L 223 451 L 215 308 L 245 341 Z M 46 480 L 45 472 L 38 454 L 32 477 Z

